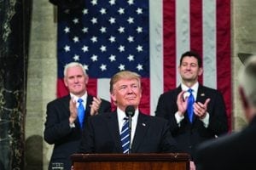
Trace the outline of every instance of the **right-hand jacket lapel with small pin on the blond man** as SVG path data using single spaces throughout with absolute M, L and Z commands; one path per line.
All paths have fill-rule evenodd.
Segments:
M 135 136 L 131 146 L 131 152 L 137 153 L 137 150 L 142 143 L 149 126 L 148 116 L 143 115 L 143 113 L 139 113 Z

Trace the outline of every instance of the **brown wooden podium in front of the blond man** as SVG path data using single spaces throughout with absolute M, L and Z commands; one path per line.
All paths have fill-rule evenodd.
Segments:
M 189 155 L 167 154 L 73 154 L 74 170 L 189 170 Z

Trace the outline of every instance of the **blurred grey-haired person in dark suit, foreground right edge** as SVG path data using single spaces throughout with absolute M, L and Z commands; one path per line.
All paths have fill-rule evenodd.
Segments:
M 241 68 L 239 93 L 248 126 L 241 132 L 200 144 L 195 151 L 196 170 L 255 169 L 256 56 L 247 59 Z

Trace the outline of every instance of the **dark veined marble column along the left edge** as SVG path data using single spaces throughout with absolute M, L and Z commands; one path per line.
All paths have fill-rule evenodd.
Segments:
M 31 8 L 28 1 L 21 1 L 0 1 L 1 170 L 20 170 L 24 164 L 26 68 Z

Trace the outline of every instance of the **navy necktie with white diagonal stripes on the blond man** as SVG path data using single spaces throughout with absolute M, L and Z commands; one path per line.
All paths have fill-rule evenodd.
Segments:
M 125 117 L 125 122 L 123 124 L 120 136 L 121 136 L 123 153 L 127 154 L 129 153 L 129 147 L 130 147 L 130 129 L 129 129 L 128 117 Z

